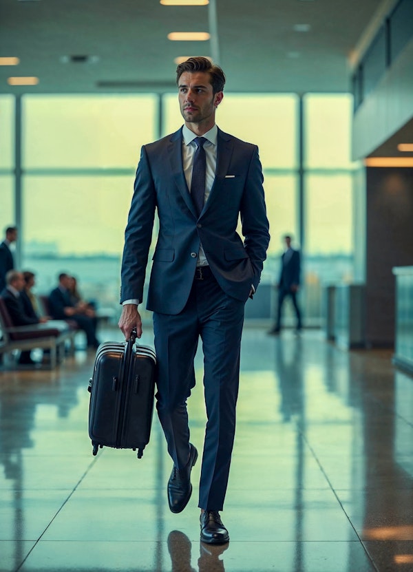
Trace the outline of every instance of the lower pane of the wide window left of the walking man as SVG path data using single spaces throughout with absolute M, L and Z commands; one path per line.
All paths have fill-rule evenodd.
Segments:
M 87 299 L 117 306 L 132 182 L 127 176 L 23 179 L 23 267 L 36 273 L 39 293 L 67 272 Z

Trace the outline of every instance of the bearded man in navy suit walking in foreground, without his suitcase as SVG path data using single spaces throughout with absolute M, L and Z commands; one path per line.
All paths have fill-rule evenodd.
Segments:
M 158 416 L 173 460 L 167 496 L 174 513 L 191 496 L 198 452 L 189 441 L 187 398 L 201 337 L 208 422 L 199 507 L 201 540 L 211 544 L 229 540 L 219 511 L 235 435 L 244 305 L 260 282 L 270 238 L 258 149 L 215 125 L 224 83 L 221 68 L 206 58 L 178 65 L 184 126 L 142 147 L 125 231 L 119 320 L 126 338 L 132 328 L 141 336 L 138 304 L 157 210 L 147 309 L 158 357 Z

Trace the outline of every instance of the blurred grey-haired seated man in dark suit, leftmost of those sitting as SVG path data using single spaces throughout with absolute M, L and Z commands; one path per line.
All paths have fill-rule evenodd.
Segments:
M 23 273 L 17 270 L 10 270 L 6 274 L 6 288 L 1 292 L 1 297 L 6 304 L 10 319 L 14 326 L 32 326 L 33 324 L 41 324 L 47 321 L 46 318 L 39 318 L 33 312 L 26 313 L 23 303 L 22 292 L 25 286 Z M 36 363 L 30 357 L 30 351 L 21 352 L 19 363 L 32 365 Z

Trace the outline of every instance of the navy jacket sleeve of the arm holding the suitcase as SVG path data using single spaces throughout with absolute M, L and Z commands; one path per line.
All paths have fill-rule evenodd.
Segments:
M 125 229 L 120 304 L 132 298 L 142 301 L 155 209 L 155 186 L 144 145 L 140 151 L 134 196 Z

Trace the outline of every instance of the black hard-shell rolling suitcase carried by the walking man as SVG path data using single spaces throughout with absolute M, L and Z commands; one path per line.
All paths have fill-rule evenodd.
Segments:
M 89 381 L 89 437 L 93 454 L 106 445 L 136 449 L 142 457 L 149 443 L 155 393 L 156 355 L 149 346 L 107 341 L 96 351 Z

